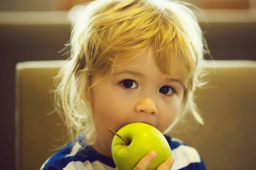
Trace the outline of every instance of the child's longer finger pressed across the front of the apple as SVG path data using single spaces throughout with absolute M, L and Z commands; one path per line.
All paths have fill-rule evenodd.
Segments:
M 140 159 L 134 170 L 146 170 L 156 156 L 157 153 L 152 150 L 150 153 L 146 154 L 142 159 Z

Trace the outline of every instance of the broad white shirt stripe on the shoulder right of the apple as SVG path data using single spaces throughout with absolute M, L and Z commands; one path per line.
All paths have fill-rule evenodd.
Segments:
M 201 162 L 198 151 L 195 148 L 186 145 L 180 145 L 179 147 L 172 150 L 172 156 L 175 160 L 172 166 L 172 170 L 179 170 L 191 163 Z

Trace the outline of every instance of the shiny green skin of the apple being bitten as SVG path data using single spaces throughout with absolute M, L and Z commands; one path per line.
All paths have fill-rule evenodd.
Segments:
M 131 142 L 128 146 L 121 138 L 114 136 L 111 146 L 113 161 L 119 170 L 133 170 L 151 150 L 157 156 L 147 170 L 156 170 L 157 167 L 172 156 L 171 148 L 163 134 L 155 127 L 145 123 L 125 125 L 117 134 Z

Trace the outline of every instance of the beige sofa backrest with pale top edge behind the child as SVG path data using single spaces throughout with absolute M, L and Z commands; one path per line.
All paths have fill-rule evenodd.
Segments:
M 51 103 L 62 61 L 16 66 L 16 170 L 38 170 L 65 143 Z M 187 119 L 172 136 L 198 149 L 209 170 L 256 169 L 256 61 L 206 61 L 209 83 L 197 91 L 205 125 Z

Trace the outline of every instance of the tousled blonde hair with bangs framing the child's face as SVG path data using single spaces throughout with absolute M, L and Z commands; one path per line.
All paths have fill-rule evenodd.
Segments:
M 183 109 L 166 132 L 191 113 L 203 124 L 194 102 L 200 80 L 204 38 L 188 3 L 171 0 L 95 0 L 73 23 L 71 56 L 58 73 L 55 101 L 71 138 L 94 130 L 91 76 L 105 74 L 116 61 L 140 56 L 152 45 L 166 74 L 182 77 Z

